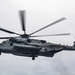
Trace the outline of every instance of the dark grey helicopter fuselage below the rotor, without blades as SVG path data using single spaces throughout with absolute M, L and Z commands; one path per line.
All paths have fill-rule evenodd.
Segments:
M 49 43 L 45 40 L 27 39 L 21 37 L 10 38 L 0 44 L 0 51 L 3 53 L 33 57 L 33 60 L 38 56 L 53 57 L 55 53 L 64 49 L 74 50 L 75 48 Z

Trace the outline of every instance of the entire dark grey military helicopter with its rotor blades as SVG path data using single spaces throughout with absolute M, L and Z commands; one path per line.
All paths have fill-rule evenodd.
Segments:
M 33 34 L 46 29 L 58 22 L 65 20 L 65 17 L 62 17 L 49 25 L 46 25 L 30 34 L 26 33 L 25 29 L 25 11 L 19 11 L 20 19 L 22 23 L 22 30 L 24 34 L 19 34 L 4 28 L 0 28 L 1 31 L 16 34 L 16 37 L 0 37 L 0 39 L 7 39 L 0 43 L 0 55 L 1 53 L 9 53 L 17 56 L 27 56 L 32 57 L 32 60 L 35 60 L 35 57 L 45 56 L 45 57 L 53 57 L 55 53 L 60 52 L 62 50 L 75 50 L 75 42 L 73 46 L 65 46 L 61 44 L 54 44 L 47 42 L 45 40 L 32 39 L 31 37 L 44 37 L 44 36 L 60 36 L 60 35 L 70 35 L 70 33 L 62 33 L 62 34 L 51 34 L 51 35 L 37 35 L 32 36 Z

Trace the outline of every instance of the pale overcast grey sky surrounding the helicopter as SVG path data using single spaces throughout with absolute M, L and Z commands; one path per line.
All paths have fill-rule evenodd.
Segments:
M 65 21 L 35 35 L 71 33 L 70 36 L 37 39 L 73 45 L 75 40 L 74 0 L 0 0 L 0 27 L 23 33 L 18 15 L 19 10 L 26 10 L 26 31 L 28 34 L 61 17 L 66 17 Z M 0 32 L 0 36 L 15 35 Z M 59 52 L 53 58 L 38 57 L 35 61 L 28 57 L 2 54 L 0 56 L 0 75 L 75 75 L 74 65 L 75 52 L 71 51 Z

